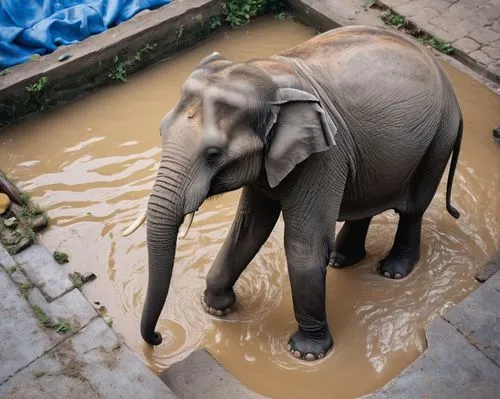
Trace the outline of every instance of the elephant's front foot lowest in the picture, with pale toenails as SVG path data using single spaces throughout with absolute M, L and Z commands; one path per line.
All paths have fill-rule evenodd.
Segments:
M 333 348 L 333 338 L 328 331 L 307 336 L 299 329 L 288 341 L 288 350 L 297 359 L 319 360 Z

